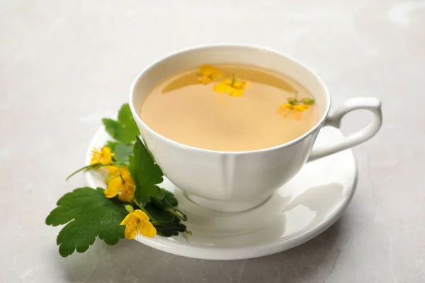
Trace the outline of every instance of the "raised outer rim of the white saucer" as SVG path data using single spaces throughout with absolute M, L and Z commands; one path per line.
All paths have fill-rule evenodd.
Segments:
M 334 129 L 338 131 L 339 134 L 345 137 L 345 135 L 341 132 L 340 129 Z M 100 127 L 94 134 L 94 137 L 91 139 L 89 149 L 86 152 L 86 164 L 90 162 L 91 149 L 96 146 L 98 136 L 104 134 L 105 132 L 105 129 L 103 127 Z M 146 246 L 149 246 L 150 248 L 161 250 L 165 253 L 171 253 L 186 258 L 196 258 L 200 260 L 244 260 L 249 258 L 259 258 L 266 255 L 280 253 L 285 250 L 289 250 L 290 248 L 295 248 L 296 246 L 300 246 L 302 243 L 310 241 L 312 238 L 319 236 L 319 234 L 329 229 L 329 227 L 332 226 L 341 217 L 341 214 L 344 212 L 348 204 L 350 204 L 351 200 L 353 199 L 353 195 L 356 192 L 356 187 L 358 183 L 358 163 L 356 160 L 356 156 L 353 153 L 353 149 L 346 149 L 345 151 L 349 151 L 350 157 L 354 162 L 354 174 L 351 185 L 347 185 L 348 190 L 350 191 L 347 192 L 346 195 L 344 195 L 344 202 L 339 205 L 338 209 L 332 212 L 331 216 L 327 217 L 311 229 L 305 231 L 304 233 L 294 238 L 288 238 L 284 241 L 266 243 L 263 245 L 245 246 L 242 248 L 198 247 L 192 246 L 190 243 L 181 243 L 179 241 L 175 241 L 173 240 L 174 237 L 165 238 L 162 236 L 147 238 L 138 235 L 136 236 L 135 241 L 143 243 Z M 94 174 L 88 171 L 84 175 L 86 178 L 87 185 L 89 185 L 89 187 L 96 187 Z

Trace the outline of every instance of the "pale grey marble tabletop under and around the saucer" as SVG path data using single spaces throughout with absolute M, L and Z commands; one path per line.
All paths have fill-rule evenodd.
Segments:
M 0 282 L 425 282 L 425 1 L 0 1 Z M 101 117 L 132 79 L 191 45 L 265 45 L 310 65 L 334 107 L 383 103 L 380 133 L 354 149 L 355 197 L 312 241 L 209 261 L 135 241 L 61 258 L 45 216 L 78 175 Z M 344 131 L 369 120 L 356 112 Z

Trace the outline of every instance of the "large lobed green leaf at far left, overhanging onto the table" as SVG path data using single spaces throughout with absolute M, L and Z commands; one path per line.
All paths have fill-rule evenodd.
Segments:
M 96 236 L 108 245 L 115 245 L 124 238 L 125 226 L 120 226 L 120 222 L 127 211 L 121 202 L 106 198 L 103 192 L 100 187 L 81 187 L 68 192 L 47 216 L 47 225 L 66 224 L 57 236 L 59 253 L 63 257 L 72 255 L 74 250 L 84 253 Z

